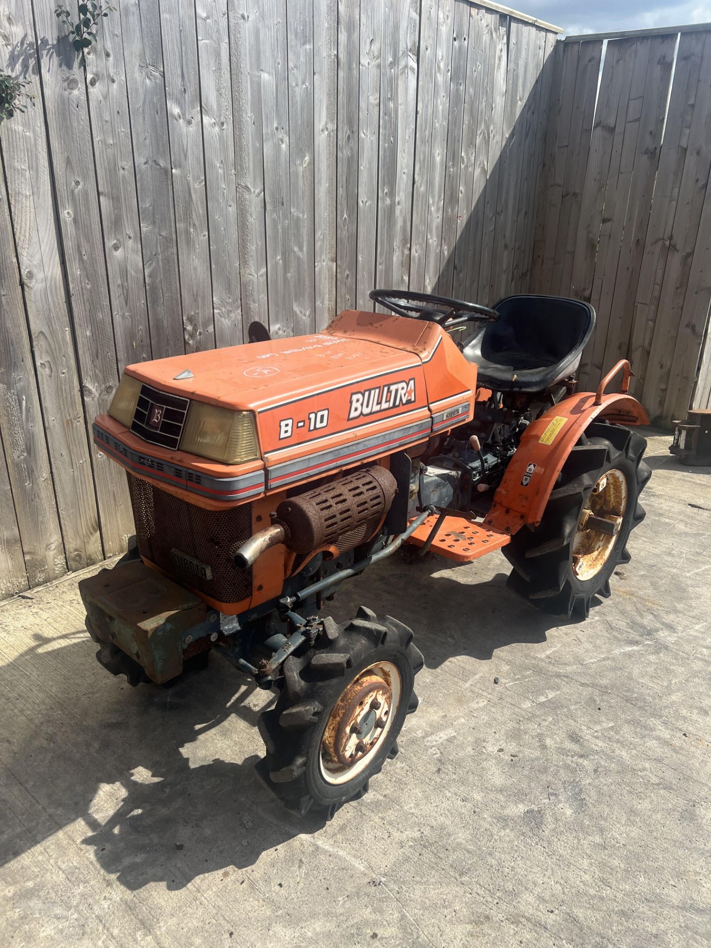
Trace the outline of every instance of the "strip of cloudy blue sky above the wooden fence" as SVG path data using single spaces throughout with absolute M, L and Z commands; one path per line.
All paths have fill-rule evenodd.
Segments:
M 711 23 L 711 0 L 502 0 L 513 9 L 538 16 L 568 34 L 602 33 L 614 29 L 679 27 Z

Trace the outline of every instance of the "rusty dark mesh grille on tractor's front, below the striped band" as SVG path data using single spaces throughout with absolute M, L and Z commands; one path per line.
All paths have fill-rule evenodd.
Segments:
M 126 476 L 141 556 L 218 602 L 239 602 L 252 594 L 251 569 L 234 565 L 235 553 L 251 535 L 251 504 L 204 510 L 133 474 Z

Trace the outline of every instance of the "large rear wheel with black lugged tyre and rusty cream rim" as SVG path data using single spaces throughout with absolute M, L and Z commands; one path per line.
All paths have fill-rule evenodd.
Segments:
M 588 617 L 594 596 L 610 595 L 611 574 L 630 559 L 629 534 L 645 519 L 639 495 L 651 477 L 642 460 L 646 447 L 621 425 L 593 422 L 586 429 L 538 527 L 521 529 L 502 551 L 514 568 L 511 589 L 541 611 L 578 619 Z M 604 527 L 602 520 L 613 536 L 588 526 Z

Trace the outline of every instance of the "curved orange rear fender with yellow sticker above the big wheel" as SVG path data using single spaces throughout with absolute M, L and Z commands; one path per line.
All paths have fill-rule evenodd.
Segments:
M 562 466 L 595 418 L 621 425 L 649 424 L 640 403 L 622 392 L 602 396 L 580 392 L 558 402 L 526 428 L 486 523 L 512 535 L 524 524 L 538 526 Z

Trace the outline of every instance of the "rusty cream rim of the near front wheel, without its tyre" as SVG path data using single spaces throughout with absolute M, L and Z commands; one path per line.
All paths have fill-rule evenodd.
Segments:
M 348 685 L 321 738 L 319 765 L 327 783 L 347 783 L 366 769 L 392 728 L 401 693 L 392 662 L 364 668 Z

